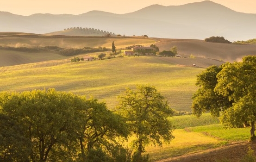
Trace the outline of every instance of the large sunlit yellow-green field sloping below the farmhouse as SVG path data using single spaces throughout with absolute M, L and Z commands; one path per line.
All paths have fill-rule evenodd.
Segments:
M 167 98 L 172 108 L 191 111 L 191 97 L 198 88 L 196 75 L 204 70 L 176 66 L 157 56 L 61 63 L 64 62 L 57 60 L 1 67 L 0 91 L 55 88 L 92 95 L 113 109 L 117 96 L 126 87 L 150 84 Z

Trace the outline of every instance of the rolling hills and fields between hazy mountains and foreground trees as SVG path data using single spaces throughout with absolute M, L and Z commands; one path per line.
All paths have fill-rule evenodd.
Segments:
M 243 56 L 253 54 L 256 49 L 256 44 L 218 44 L 194 39 L 73 37 L 26 33 L 1 33 L 0 36 L 0 46 L 27 48 L 102 46 L 110 49 L 112 41 L 119 50 L 134 44 L 156 44 L 160 50 L 170 50 L 172 46 L 177 46 L 181 57 L 125 56 L 73 63 L 70 60 L 74 56 L 62 56 L 51 50 L 25 52 L 0 49 L 1 91 L 54 87 L 56 90 L 93 95 L 97 99 L 106 100 L 111 108 L 115 106 L 117 96 L 125 87 L 152 84 L 159 88 L 173 108 L 190 111 L 191 97 L 198 88 L 195 86 L 196 75 L 211 65 L 239 61 Z M 97 58 L 99 54 L 100 52 L 78 56 Z M 191 54 L 193 58 L 190 57 Z M 196 66 L 192 67 L 193 64 Z

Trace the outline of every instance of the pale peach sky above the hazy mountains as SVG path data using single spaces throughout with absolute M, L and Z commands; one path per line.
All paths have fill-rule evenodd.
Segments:
M 28 16 L 34 13 L 74 14 L 93 10 L 128 13 L 159 4 L 178 6 L 203 0 L 0 0 L 0 11 Z M 256 0 L 212 0 L 237 12 L 256 13 Z

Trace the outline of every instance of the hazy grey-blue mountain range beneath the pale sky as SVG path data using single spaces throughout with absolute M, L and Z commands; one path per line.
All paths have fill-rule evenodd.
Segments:
M 223 36 L 229 41 L 256 38 L 256 14 L 236 12 L 209 0 L 181 6 L 151 5 L 125 14 L 91 11 L 80 15 L 21 16 L 0 12 L 0 22 L 0 31 L 37 34 L 90 27 L 126 36 L 192 39 Z

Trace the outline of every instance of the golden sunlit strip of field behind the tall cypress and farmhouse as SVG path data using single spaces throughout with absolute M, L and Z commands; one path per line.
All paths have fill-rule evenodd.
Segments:
M 12 47 L 37 47 L 37 46 L 58 46 L 62 48 L 84 48 L 84 47 L 115 47 L 125 48 L 131 45 L 144 45 L 156 43 L 154 39 L 143 37 L 65 37 L 62 38 L 34 38 L 34 37 L 13 37 L 1 38 L 0 45 Z

